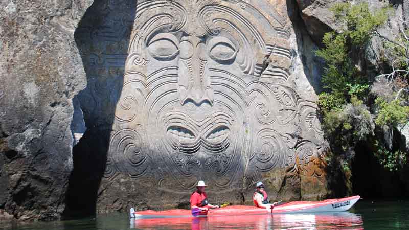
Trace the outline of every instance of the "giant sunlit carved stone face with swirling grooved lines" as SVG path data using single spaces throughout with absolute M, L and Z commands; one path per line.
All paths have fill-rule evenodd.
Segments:
M 308 117 L 300 108 L 309 105 L 286 86 L 286 19 L 257 2 L 139 3 L 107 176 L 152 176 L 172 189 L 199 179 L 227 187 L 292 164 L 294 133 Z

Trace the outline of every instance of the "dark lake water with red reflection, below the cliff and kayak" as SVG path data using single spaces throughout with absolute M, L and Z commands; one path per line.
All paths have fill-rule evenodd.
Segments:
M 349 212 L 156 218 L 130 221 L 127 214 L 70 221 L 1 224 L 0 230 L 120 229 L 409 229 L 409 201 L 360 200 Z

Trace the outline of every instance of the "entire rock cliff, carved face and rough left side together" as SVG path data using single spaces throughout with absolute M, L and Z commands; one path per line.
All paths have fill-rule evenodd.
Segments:
M 198 180 L 212 203 L 259 180 L 333 196 L 313 54 L 333 2 L 1 0 L 0 219 L 185 207 Z

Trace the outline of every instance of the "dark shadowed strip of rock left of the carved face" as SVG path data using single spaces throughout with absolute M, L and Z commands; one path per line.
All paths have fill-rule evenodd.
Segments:
M 74 34 L 87 85 L 73 99 L 74 169 L 66 194 L 65 218 L 96 213 L 136 2 L 94 1 Z

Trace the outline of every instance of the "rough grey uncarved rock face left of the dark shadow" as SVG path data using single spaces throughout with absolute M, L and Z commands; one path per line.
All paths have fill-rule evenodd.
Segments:
M 64 210 L 72 98 L 85 87 L 73 35 L 91 3 L 0 1 L 0 210 L 14 218 Z

